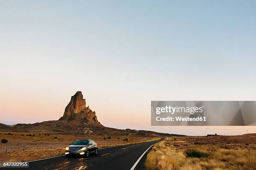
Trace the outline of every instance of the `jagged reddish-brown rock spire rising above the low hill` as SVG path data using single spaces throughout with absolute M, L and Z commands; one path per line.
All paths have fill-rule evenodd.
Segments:
M 82 92 L 78 91 L 71 97 L 71 100 L 65 108 L 64 115 L 59 120 L 78 121 L 88 126 L 102 126 L 97 120 L 95 111 L 92 111 L 89 106 L 86 107 L 85 99 Z

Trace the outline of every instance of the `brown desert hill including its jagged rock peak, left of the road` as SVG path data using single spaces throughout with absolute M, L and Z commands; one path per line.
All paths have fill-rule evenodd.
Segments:
M 157 133 L 147 130 L 121 130 L 104 127 L 98 120 L 95 111 L 89 106 L 86 107 L 82 92 L 78 91 L 71 97 L 65 108 L 64 115 L 59 120 L 37 122 L 33 124 L 16 124 L 8 126 L 0 124 L 0 130 L 30 131 L 41 133 L 61 133 L 61 134 L 87 134 L 87 135 L 126 135 L 145 137 L 164 136 L 185 136 L 169 133 Z

